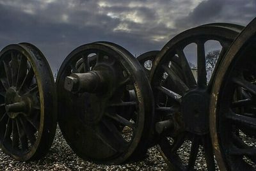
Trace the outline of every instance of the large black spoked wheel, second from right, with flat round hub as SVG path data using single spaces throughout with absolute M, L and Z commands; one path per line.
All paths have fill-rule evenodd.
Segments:
M 211 80 L 207 84 L 205 69 L 205 47 L 208 40 L 219 41 L 222 49 L 218 68 L 228 46 L 236 38 L 241 26 L 208 24 L 184 31 L 170 40 L 157 54 L 150 82 L 154 92 L 156 131 L 159 133 L 158 147 L 169 167 L 175 170 L 193 170 L 198 151 L 204 150 L 208 170 L 215 170 L 214 155 L 209 135 L 209 96 Z M 198 79 L 195 80 L 184 48 L 190 43 L 197 45 Z M 177 63 L 182 72 L 176 71 Z M 179 75 L 178 75 L 179 73 Z M 189 147 L 188 160 L 184 147 Z

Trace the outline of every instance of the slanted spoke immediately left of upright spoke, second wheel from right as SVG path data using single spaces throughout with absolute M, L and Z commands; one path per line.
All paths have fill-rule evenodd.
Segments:
M 195 80 L 195 77 L 193 76 L 193 73 L 191 71 L 191 68 L 188 64 L 188 60 L 187 60 L 183 50 L 181 48 L 177 48 L 176 52 L 180 59 L 181 68 L 182 68 L 182 70 L 184 70 L 184 73 L 186 74 L 185 78 L 186 78 L 188 87 L 194 87 L 196 85 L 196 80 Z

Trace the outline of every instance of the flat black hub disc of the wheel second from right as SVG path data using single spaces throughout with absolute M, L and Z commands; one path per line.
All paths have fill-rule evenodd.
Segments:
M 182 98 L 181 111 L 186 130 L 204 135 L 208 130 L 209 94 L 206 91 L 194 90 Z

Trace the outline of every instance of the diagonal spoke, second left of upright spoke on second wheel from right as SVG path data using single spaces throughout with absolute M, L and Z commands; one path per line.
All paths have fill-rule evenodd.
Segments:
M 164 71 L 168 74 L 168 77 L 171 78 L 172 83 L 175 84 L 175 87 L 179 89 L 183 94 L 189 90 L 188 86 L 180 79 L 180 77 L 168 66 L 162 66 Z

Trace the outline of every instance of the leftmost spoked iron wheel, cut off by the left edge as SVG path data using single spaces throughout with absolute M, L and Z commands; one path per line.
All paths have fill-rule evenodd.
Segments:
M 56 89 L 47 60 L 29 43 L 0 52 L 0 144 L 15 160 L 42 158 L 57 124 Z

